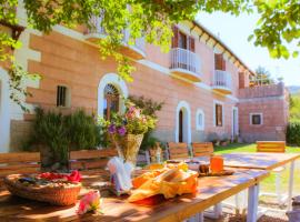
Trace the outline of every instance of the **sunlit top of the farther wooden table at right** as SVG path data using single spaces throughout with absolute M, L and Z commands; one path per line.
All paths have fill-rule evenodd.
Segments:
M 228 153 L 222 154 L 224 165 L 230 168 L 247 168 L 260 170 L 273 170 L 300 158 L 300 153 Z M 208 162 L 208 157 L 194 158 Z

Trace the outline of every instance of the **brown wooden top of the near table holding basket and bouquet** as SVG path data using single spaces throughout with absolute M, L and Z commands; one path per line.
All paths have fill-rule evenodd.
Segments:
M 199 178 L 196 194 L 184 194 L 162 201 L 159 205 L 142 206 L 121 198 L 103 198 L 103 214 L 78 216 L 77 206 L 61 208 L 34 202 L 0 192 L 0 221 L 182 221 L 224 199 L 256 184 L 269 175 L 263 170 L 236 169 L 229 176 Z M 83 185 L 93 186 L 97 174 L 84 175 Z M 87 190 L 83 190 L 87 192 Z

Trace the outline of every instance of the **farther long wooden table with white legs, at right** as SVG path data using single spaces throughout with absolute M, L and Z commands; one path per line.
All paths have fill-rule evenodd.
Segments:
M 293 176 L 294 176 L 294 161 L 300 158 L 300 153 L 270 153 L 270 152 L 256 152 L 256 153 L 228 153 L 222 154 L 224 165 L 237 169 L 260 169 L 260 170 L 274 170 L 276 168 L 283 167 L 290 163 L 289 176 L 289 191 L 288 191 L 288 210 L 291 209 Z M 203 163 L 209 162 L 209 157 L 194 158 Z M 254 190 L 259 192 L 259 186 Z M 258 200 L 253 200 L 258 202 Z M 248 203 L 249 204 L 249 203 Z M 250 214 L 248 213 L 248 216 Z

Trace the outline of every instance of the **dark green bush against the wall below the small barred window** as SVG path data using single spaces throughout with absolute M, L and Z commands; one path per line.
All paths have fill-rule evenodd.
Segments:
M 101 142 L 100 128 L 93 117 L 78 110 L 70 115 L 36 109 L 29 147 L 48 145 L 58 159 L 68 159 L 69 150 L 96 149 Z M 27 148 L 28 150 L 28 148 Z

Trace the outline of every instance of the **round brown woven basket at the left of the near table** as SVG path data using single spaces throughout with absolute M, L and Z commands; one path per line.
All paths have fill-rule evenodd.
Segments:
M 81 183 L 62 186 L 27 186 L 18 181 L 22 176 L 21 174 L 11 174 L 4 179 L 6 186 L 14 195 L 53 205 L 71 205 L 77 202 Z

